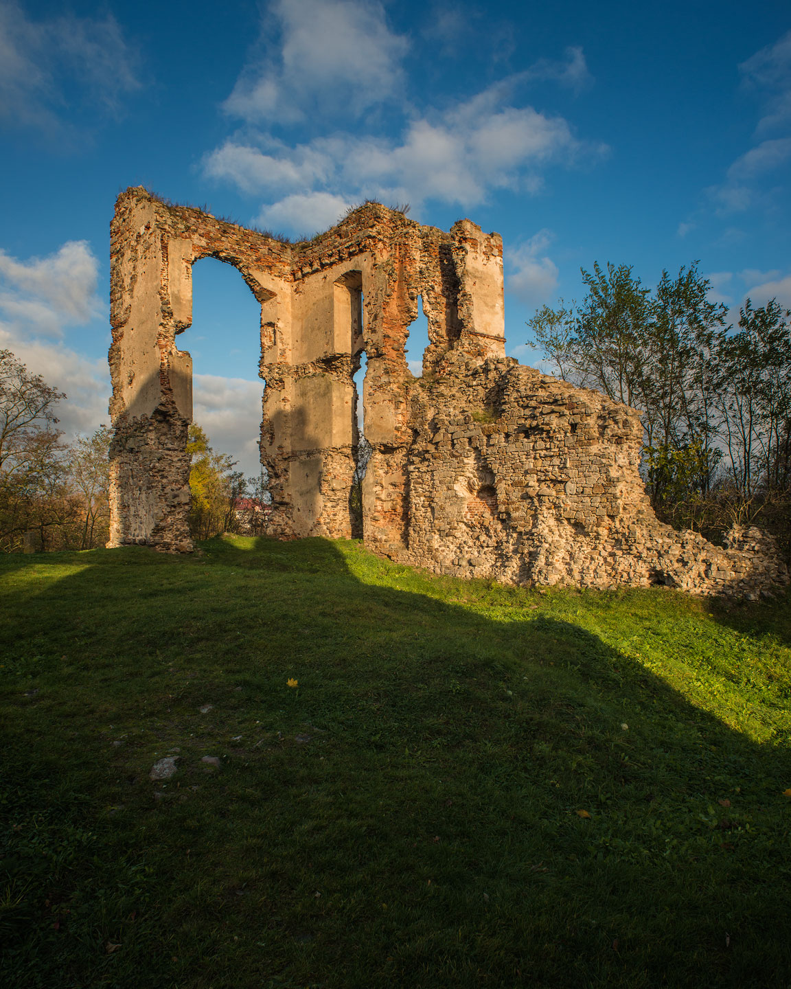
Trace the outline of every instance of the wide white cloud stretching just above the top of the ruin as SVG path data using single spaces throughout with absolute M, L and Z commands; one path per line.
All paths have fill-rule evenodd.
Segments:
M 244 192 L 287 193 L 264 207 L 262 221 L 299 231 L 326 223 L 336 205 L 342 212 L 366 198 L 408 202 L 417 212 L 425 200 L 468 209 L 494 189 L 535 193 L 550 165 L 607 153 L 604 144 L 578 140 L 562 117 L 509 105 L 512 88 L 505 80 L 444 114 L 417 117 L 396 140 L 336 134 L 289 147 L 267 138 L 262 148 L 227 141 L 205 158 L 204 169 Z

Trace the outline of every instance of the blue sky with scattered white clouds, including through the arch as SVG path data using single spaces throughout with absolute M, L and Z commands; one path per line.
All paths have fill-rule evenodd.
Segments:
M 0 151 L 0 346 L 68 395 L 69 432 L 108 419 L 128 185 L 292 235 L 367 197 L 470 217 L 502 234 L 528 363 L 525 319 L 594 261 L 654 284 L 699 259 L 718 301 L 791 306 L 787 0 L 0 0 Z M 232 269 L 196 266 L 181 339 L 196 419 L 252 472 L 257 315 Z

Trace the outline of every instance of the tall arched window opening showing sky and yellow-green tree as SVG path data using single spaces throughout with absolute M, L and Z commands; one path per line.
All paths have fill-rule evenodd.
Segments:
M 197 538 L 265 530 L 269 497 L 258 447 L 266 387 L 258 374 L 261 336 L 261 304 L 240 273 L 217 258 L 196 261 L 192 326 L 183 339 L 193 358 L 191 432 L 200 427 L 209 448 L 192 454 Z

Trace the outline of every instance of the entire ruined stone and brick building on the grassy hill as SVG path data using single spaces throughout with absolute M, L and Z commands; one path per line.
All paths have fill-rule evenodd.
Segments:
M 111 546 L 190 552 L 192 264 L 216 257 L 261 305 L 261 463 L 272 535 L 362 535 L 428 570 L 507 584 L 668 584 L 754 596 L 787 583 L 770 540 L 726 548 L 658 521 L 638 472 L 637 411 L 505 357 L 502 242 L 376 203 L 284 243 L 142 188 L 111 225 Z M 423 373 L 404 345 L 428 319 Z M 363 532 L 350 492 L 362 354 Z

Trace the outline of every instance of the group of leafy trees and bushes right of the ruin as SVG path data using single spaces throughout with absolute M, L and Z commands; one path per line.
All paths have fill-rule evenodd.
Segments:
M 772 300 L 739 327 L 697 262 L 646 289 L 626 265 L 582 271 L 579 307 L 528 322 L 559 374 L 643 413 L 644 470 L 659 516 L 722 535 L 755 521 L 791 560 L 791 333 Z

